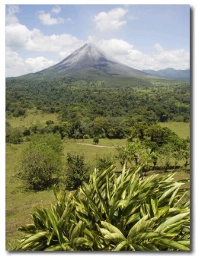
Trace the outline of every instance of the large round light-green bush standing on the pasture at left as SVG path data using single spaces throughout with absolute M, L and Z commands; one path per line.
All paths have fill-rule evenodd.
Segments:
M 20 159 L 19 176 L 27 189 L 42 191 L 58 183 L 63 167 L 61 143 L 58 138 L 38 136 L 26 146 Z

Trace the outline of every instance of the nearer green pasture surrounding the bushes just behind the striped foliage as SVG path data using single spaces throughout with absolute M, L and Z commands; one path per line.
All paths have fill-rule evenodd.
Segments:
M 68 152 L 75 151 L 84 153 L 86 163 L 94 169 L 96 155 L 104 155 L 106 153 L 116 153 L 114 148 L 117 145 L 123 145 L 126 140 L 108 140 L 100 139 L 98 146 L 92 144 L 92 139 L 86 140 L 65 140 L 64 155 Z M 86 145 L 84 145 L 86 144 Z M 50 203 L 54 202 L 53 192 L 26 192 L 22 189 L 21 181 L 16 177 L 18 169 L 18 159 L 26 144 L 11 144 L 6 148 L 6 243 L 7 250 L 12 250 L 16 245 L 16 239 L 20 238 L 20 232 L 17 228 L 24 224 L 30 224 L 32 206 L 50 207 Z M 116 163 L 119 168 L 119 163 Z M 148 175 L 152 175 L 153 171 L 149 171 Z M 163 171 L 156 171 L 159 175 L 164 176 Z M 189 172 L 178 171 L 175 176 L 176 180 L 189 179 Z M 189 186 L 189 184 L 187 184 Z

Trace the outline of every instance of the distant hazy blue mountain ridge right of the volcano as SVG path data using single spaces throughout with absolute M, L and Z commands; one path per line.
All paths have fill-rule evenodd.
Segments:
M 179 80 L 189 80 L 190 79 L 190 69 L 174 69 L 174 68 L 166 68 L 166 69 L 160 69 L 158 71 L 152 70 L 152 69 L 144 69 L 142 70 L 146 73 L 149 73 L 150 75 L 157 75 L 160 77 L 167 77 L 172 79 L 179 79 Z

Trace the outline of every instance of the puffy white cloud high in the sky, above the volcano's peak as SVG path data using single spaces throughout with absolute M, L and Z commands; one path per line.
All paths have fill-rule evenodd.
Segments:
M 96 27 L 101 30 L 117 30 L 121 26 L 126 24 L 126 21 L 122 21 L 123 17 L 127 13 L 127 9 L 116 8 L 112 9 L 108 13 L 101 12 L 94 16 L 94 22 Z

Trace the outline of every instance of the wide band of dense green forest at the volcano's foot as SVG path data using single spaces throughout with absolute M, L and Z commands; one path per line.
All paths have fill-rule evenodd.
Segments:
M 6 87 L 7 116 L 25 116 L 28 109 L 59 113 L 61 121 L 71 125 L 75 122 L 75 130 L 80 134 L 84 123 L 91 126 L 98 116 L 116 125 L 121 121 L 132 125 L 145 120 L 150 124 L 189 122 L 189 103 L 187 82 L 110 87 L 103 81 L 9 79 Z

